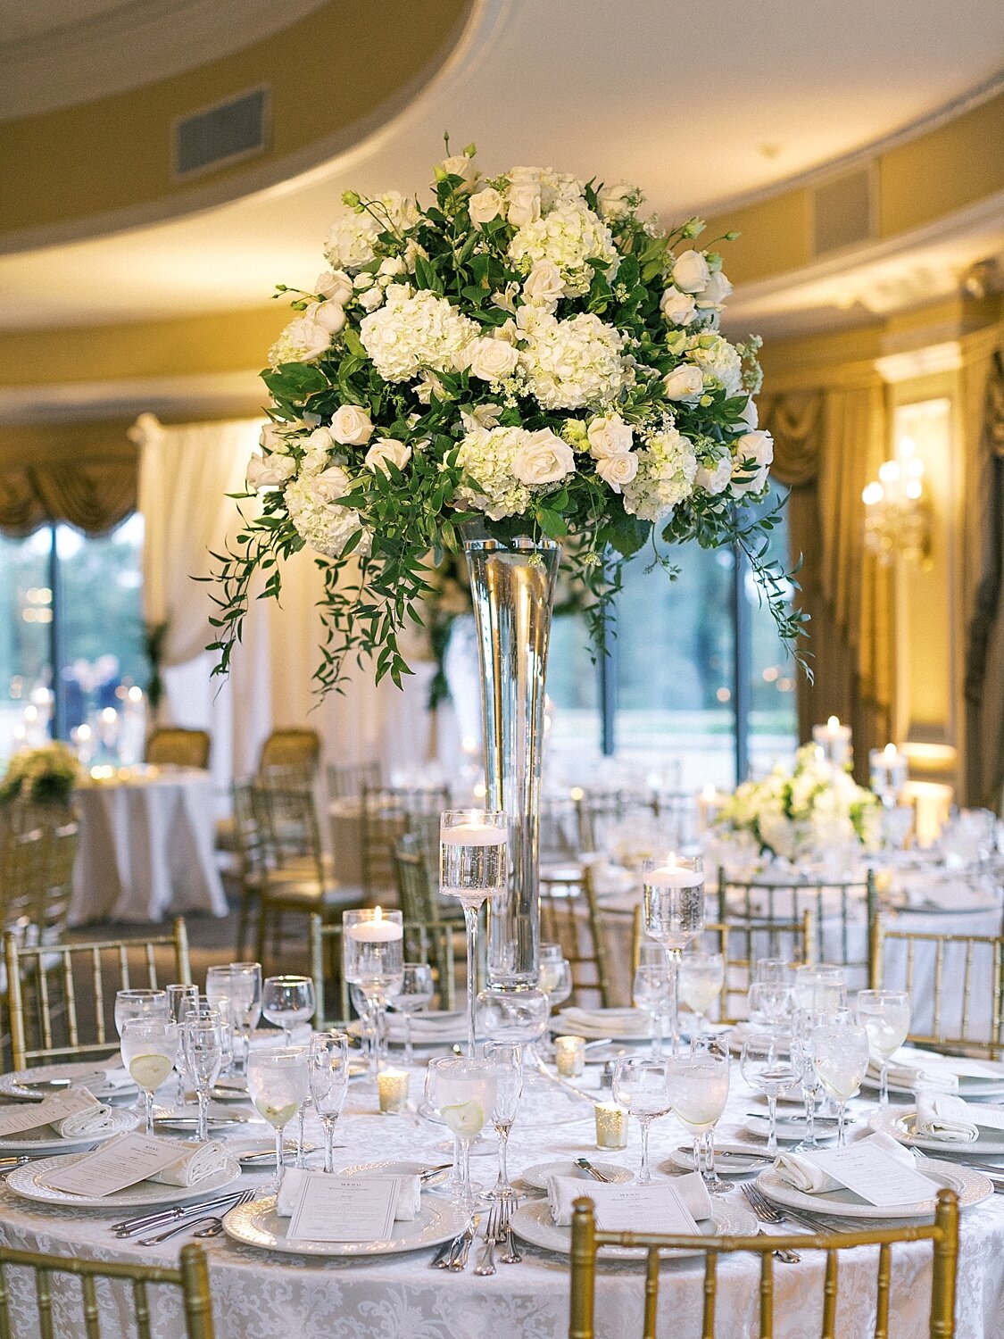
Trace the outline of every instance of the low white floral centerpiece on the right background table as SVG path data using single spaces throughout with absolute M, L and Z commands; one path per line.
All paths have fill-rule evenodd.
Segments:
M 881 837 L 882 806 L 815 744 L 795 754 L 794 770 L 778 765 L 763 781 L 744 781 L 718 817 L 724 832 L 748 832 L 760 849 L 784 860 L 859 842 L 871 850 Z

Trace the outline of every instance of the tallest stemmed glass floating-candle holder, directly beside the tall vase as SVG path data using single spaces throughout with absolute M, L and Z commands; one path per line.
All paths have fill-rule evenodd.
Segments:
M 439 815 L 439 892 L 463 907 L 467 932 L 467 1054 L 474 1055 L 478 912 L 505 893 L 509 819 L 498 809 L 447 809 Z

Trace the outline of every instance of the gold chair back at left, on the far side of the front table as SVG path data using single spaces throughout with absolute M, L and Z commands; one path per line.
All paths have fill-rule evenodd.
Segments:
M 23 945 L 4 935 L 7 1012 L 13 1069 L 118 1048 L 115 991 L 158 987 L 157 951 L 170 951 L 171 981 L 190 981 L 185 921 L 154 939 Z M 106 1016 L 107 1014 L 107 1016 Z M 84 1040 L 92 1036 L 94 1040 Z

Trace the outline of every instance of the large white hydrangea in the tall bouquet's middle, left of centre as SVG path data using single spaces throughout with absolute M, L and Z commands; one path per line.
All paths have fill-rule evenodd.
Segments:
M 456 355 L 479 333 L 477 323 L 444 297 L 427 288 L 412 295 L 407 284 L 391 284 L 386 304 L 359 325 L 363 347 L 386 382 L 410 382 L 430 368 L 452 370 Z

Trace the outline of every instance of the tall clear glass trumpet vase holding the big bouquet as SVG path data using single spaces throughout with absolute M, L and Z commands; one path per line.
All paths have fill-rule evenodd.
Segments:
M 538 836 L 543 682 L 561 548 L 553 540 L 489 538 L 466 526 L 463 548 L 478 628 L 489 809 L 509 815 L 509 885 L 489 904 L 489 983 L 537 984 Z

